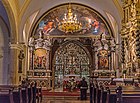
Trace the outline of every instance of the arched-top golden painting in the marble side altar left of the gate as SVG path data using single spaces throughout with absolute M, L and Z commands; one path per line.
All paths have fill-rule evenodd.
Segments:
M 34 69 L 46 69 L 47 51 L 39 48 L 34 51 Z

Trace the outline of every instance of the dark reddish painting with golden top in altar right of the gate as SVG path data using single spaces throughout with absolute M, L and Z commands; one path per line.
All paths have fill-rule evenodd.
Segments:
M 99 69 L 101 70 L 109 69 L 108 51 L 105 49 L 100 50 L 98 57 L 99 57 L 98 59 Z

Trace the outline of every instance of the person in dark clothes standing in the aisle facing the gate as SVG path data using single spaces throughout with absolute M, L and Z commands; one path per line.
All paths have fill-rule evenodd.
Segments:
M 88 84 L 87 84 L 87 81 L 85 80 L 85 77 L 83 77 L 82 80 L 80 81 L 79 88 L 80 88 L 80 99 L 86 100 Z

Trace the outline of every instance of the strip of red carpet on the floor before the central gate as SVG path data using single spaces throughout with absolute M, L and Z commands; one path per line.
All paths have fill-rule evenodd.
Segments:
M 79 96 L 80 92 L 49 92 L 43 90 L 42 94 L 45 96 Z

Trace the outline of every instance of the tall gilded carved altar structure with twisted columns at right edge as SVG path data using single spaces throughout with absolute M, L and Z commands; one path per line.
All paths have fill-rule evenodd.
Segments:
M 139 25 L 139 2 L 138 0 L 124 0 L 122 20 L 122 68 L 127 70 L 129 76 L 137 73 L 137 37 L 136 31 L 140 29 Z

